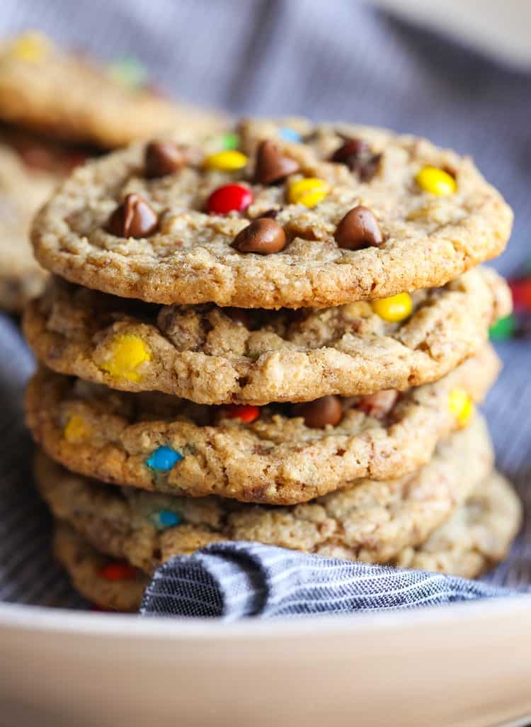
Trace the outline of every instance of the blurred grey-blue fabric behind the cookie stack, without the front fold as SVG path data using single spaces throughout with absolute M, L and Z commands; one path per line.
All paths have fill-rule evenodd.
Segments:
M 102 58 L 136 55 L 169 91 L 233 113 L 380 124 L 469 152 L 516 212 L 498 269 L 512 273 L 531 254 L 531 77 L 524 73 L 352 0 L 4 0 L 0 31 L 27 27 Z M 529 511 L 529 341 L 500 353 L 506 368 L 485 413 L 498 465 Z M 49 557 L 49 521 L 29 486 L 20 399 L 31 366 L 12 321 L 1 318 L 0 601 L 78 606 Z M 531 583 L 531 518 L 487 582 Z

